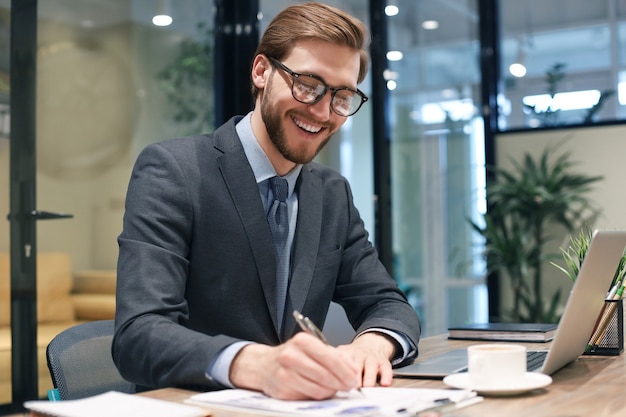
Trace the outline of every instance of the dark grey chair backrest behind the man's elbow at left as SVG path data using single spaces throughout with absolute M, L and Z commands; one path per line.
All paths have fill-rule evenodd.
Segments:
M 135 393 L 135 384 L 120 375 L 111 356 L 113 320 L 78 324 L 59 333 L 46 349 L 48 369 L 62 400 L 107 391 Z

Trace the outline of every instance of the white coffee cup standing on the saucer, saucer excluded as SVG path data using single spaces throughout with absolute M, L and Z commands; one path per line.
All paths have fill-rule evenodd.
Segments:
M 467 348 L 469 380 L 473 388 L 506 388 L 519 384 L 526 374 L 526 347 L 487 343 Z

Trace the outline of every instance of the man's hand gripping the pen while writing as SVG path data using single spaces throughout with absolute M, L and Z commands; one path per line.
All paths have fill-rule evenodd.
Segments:
M 351 349 L 335 348 L 300 332 L 279 346 L 244 347 L 231 364 L 230 380 L 238 388 L 274 398 L 325 399 L 361 385 L 363 365 L 354 359 L 365 362 Z

